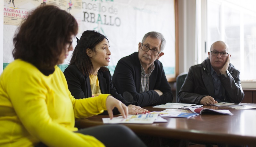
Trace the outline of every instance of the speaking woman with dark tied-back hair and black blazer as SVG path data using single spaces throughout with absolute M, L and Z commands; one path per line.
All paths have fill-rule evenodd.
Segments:
M 78 39 L 77 39 L 78 40 Z M 84 31 L 73 51 L 69 66 L 64 75 L 71 94 L 75 98 L 95 97 L 99 94 L 111 94 L 128 106 L 129 114 L 149 112 L 142 109 L 137 102 L 127 102 L 117 93 L 111 81 L 109 65 L 111 52 L 106 36 L 94 30 Z M 114 114 L 119 113 L 117 109 Z

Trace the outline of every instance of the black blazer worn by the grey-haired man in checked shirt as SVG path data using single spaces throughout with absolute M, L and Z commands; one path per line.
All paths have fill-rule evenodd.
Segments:
M 127 93 L 139 103 L 139 106 L 160 105 L 172 102 L 173 95 L 171 87 L 166 79 L 163 65 L 159 60 L 154 62 L 155 69 L 149 77 L 149 91 L 140 93 L 141 85 L 141 65 L 138 52 L 121 58 L 113 74 L 113 84 L 118 93 L 125 99 Z M 163 95 L 159 96 L 154 89 L 161 90 Z

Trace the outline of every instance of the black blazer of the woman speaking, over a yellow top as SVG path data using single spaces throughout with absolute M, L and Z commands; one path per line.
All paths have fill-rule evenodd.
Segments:
M 64 75 L 68 82 L 68 88 L 76 99 L 92 97 L 91 84 L 89 76 L 84 76 L 75 65 L 68 66 Z M 128 102 L 120 94 L 117 93 L 114 88 L 111 80 L 111 74 L 109 70 L 98 71 L 98 80 L 102 94 L 111 94 L 116 99 L 120 100 L 126 106 L 129 104 L 138 105 L 137 102 Z M 113 113 L 119 113 L 116 110 L 113 110 Z

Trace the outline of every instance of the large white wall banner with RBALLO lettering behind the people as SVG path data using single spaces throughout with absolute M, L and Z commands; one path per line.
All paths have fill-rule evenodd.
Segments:
M 166 46 L 159 59 L 165 74 L 176 78 L 175 10 L 170 0 L 4 0 L 4 67 L 12 62 L 12 38 L 29 11 L 39 5 L 54 4 L 70 12 L 78 22 L 80 38 L 85 30 L 96 30 L 110 43 L 111 74 L 120 58 L 138 51 L 138 43 L 150 31 L 164 35 Z M 73 41 L 73 47 L 76 41 Z M 60 65 L 65 69 L 71 57 Z

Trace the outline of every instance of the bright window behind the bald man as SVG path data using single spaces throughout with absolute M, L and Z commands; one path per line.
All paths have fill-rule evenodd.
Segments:
M 256 81 L 256 11 L 254 0 L 207 0 L 207 49 L 222 40 L 241 81 Z

